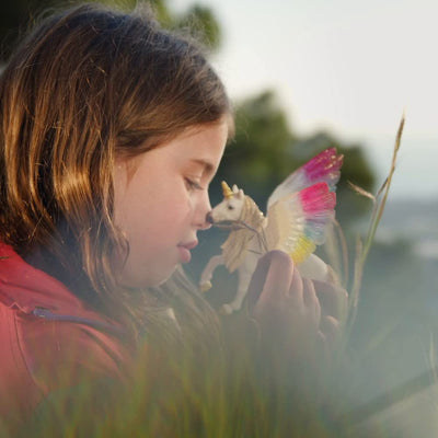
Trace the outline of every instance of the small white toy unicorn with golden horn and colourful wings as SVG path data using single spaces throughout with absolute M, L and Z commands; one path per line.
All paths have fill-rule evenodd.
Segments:
M 272 250 L 290 254 L 303 277 L 328 280 L 328 266 L 312 254 L 324 243 L 325 233 L 334 219 L 336 183 L 343 155 L 326 149 L 290 174 L 269 196 L 266 217 L 251 197 L 233 185 L 222 182 L 223 200 L 208 216 L 218 227 L 229 228 L 230 234 L 221 245 L 222 253 L 210 258 L 200 280 L 200 290 L 211 287 L 219 265 L 239 273 L 234 300 L 223 304 L 222 312 L 238 311 L 245 298 L 258 258 Z

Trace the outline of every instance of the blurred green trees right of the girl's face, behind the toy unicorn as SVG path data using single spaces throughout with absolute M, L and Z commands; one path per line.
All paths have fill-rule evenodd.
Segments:
M 221 199 L 219 182 L 238 184 L 264 209 L 273 189 L 288 174 L 326 148 L 344 154 L 338 184 L 338 218 L 348 224 L 369 210 L 369 200 L 358 196 L 347 181 L 372 191 L 374 175 L 359 145 L 345 145 L 326 132 L 299 138 L 290 129 L 285 111 L 273 91 L 249 97 L 235 107 L 235 138 L 226 150 L 212 182 L 212 203 Z

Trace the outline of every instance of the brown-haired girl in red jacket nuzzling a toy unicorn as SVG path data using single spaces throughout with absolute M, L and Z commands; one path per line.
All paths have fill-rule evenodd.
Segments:
M 216 355 L 220 368 L 219 322 L 177 268 L 208 228 L 208 185 L 233 131 L 200 48 L 148 16 L 81 5 L 22 43 L 0 102 L 4 425 L 83 382 L 126 383 L 139 364 L 146 372 L 150 345 L 174 357 L 196 345 L 197 364 Z M 262 260 L 251 289 L 262 328 L 276 321 L 273 357 L 324 337 L 315 287 L 285 254 Z

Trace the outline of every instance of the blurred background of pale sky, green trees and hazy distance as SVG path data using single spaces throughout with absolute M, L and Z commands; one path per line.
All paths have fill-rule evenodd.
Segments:
M 136 5 L 129 0 L 106 2 L 126 9 Z M 73 3 L 3 1 L 1 62 L 43 11 Z M 397 166 L 349 338 L 350 373 L 338 396 L 357 406 L 376 402 L 376 410 L 364 415 L 383 422 L 385 436 L 430 436 L 436 431 L 438 403 L 433 385 L 425 384 L 434 383 L 427 372 L 435 367 L 438 338 L 438 3 L 155 0 L 151 4 L 165 26 L 189 28 L 204 39 L 233 101 L 237 136 L 211 184 L 212 204 L 221 198 L 219 182 L 224 178 L 243 187 L 263 209 L 270 192 L 291 171 L 334 146 L 345 154 L 337 218 L 347 238 L 350 266 L 355 239 L 367 229 L 372 203 L 351 191 L 347 181 L 378 192 L 405 113 Z M 201 235 L 188 269 L 195 280 L 223 239 L 215 231 Z M 219 306 L 233 287 L 235 278 L 219 269 L 207 297 Z M 429 390 L 419 391 L 426 387 Z M 425 416 L 425 410 L 430 415 Z M 378 413 L 371 415 L 373 411 Z

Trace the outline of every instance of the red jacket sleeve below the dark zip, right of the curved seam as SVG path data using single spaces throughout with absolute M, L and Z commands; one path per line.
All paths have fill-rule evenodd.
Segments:
M 43 393 L 85 380 L 124 378 L 128 353 L 115 336 L 90 324 L 18 315 L 26 366 Z

